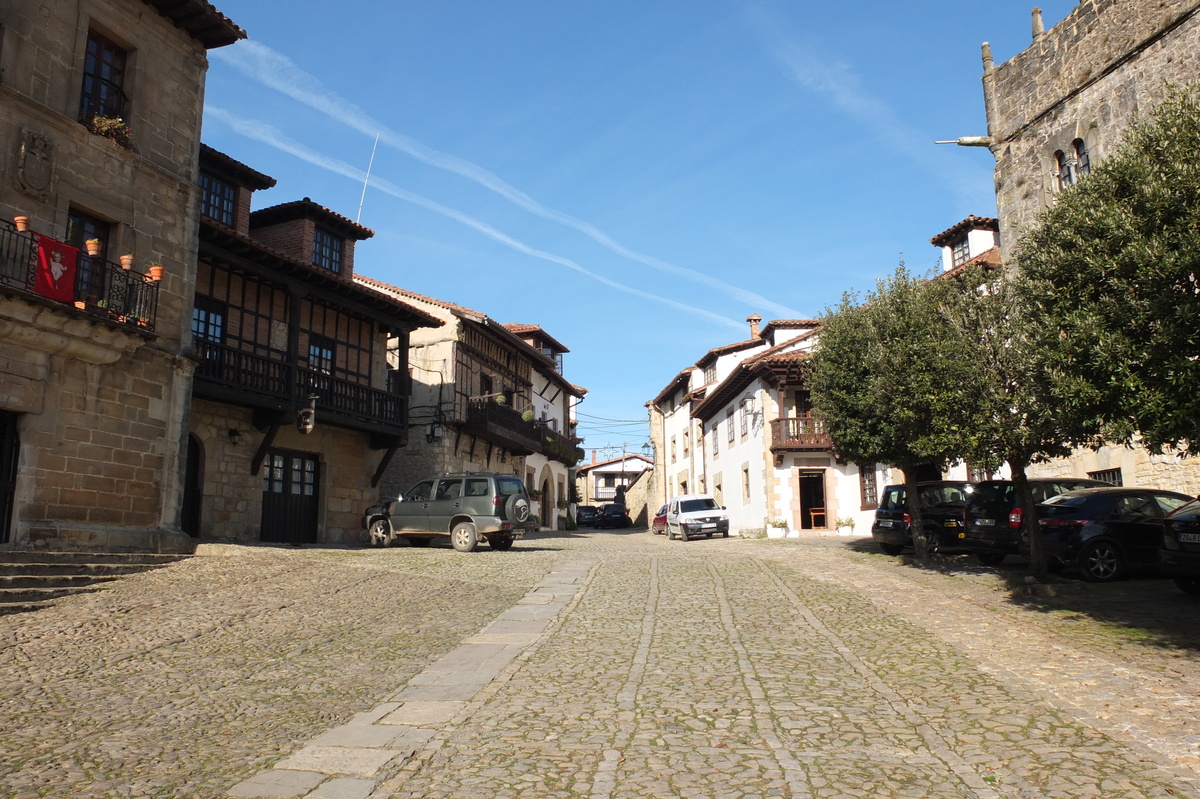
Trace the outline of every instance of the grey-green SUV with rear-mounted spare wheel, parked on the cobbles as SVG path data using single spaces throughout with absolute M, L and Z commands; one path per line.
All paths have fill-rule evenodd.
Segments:
M 368 507 L 362 527 L 374 546 L 400 539 L 428 546 L 446 537 L 455 549 L 472 552 L 481 540 L 493 549 L 512 548 L 529 519 L 529 494 L 518 477 L 475 471 L 421 480 L 396 499 Z

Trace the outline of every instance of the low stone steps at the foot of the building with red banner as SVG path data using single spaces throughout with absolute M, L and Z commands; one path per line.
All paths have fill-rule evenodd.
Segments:
M 186 555 L 143 552 L 0 552 L 0 615 L 36 611 L 70 594 Z

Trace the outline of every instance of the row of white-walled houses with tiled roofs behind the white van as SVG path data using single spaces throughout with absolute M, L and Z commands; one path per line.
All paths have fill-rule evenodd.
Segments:
M 812 414 L 817 323 L 748 322 L 749 340 L 709 350 L 648 403 L 659 499 L 712 494 L 734 530 L 820 533 L 844 517 L 869 527 L 889 471 L 839 461 Z

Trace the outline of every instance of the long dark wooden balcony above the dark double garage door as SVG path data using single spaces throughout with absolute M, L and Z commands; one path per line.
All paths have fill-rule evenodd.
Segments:
M 196 349 L 199 397 L 290 414 L 316 395 L 318 423 L 407 434 L 408 397 L 403 395 L 211 341 L 197 340 Z

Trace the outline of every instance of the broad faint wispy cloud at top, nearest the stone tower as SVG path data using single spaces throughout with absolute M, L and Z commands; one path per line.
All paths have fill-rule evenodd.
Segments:
M 980 194 L 991 198 L 988 168 L 935 145 L 932 134 L 905 122 L 887 101 L 871 94 L 851 65 L 824 52 L 810 35 L 792 30 L 785 14 L 763 2 L 748 4 L 744 12 L 749 28 L 788 78 L 826 97 L 882 146 L 937 175 L 947 191 L 971 203 Z

